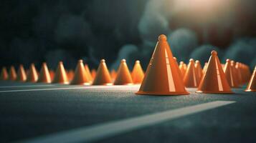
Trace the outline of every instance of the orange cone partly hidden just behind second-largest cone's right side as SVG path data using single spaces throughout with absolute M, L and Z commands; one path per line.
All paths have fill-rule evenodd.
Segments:
M 230 59 L 226 60 L 226 64 L 224 66 L 224 74 L 227 78 L 227 82 L 229 83 L 229 86 L 237 88 L 239 87 L 239 84 L 237 82 L 237 77 L 235 77 L 236 76 L 235 69 L 234 69 L 235 67 L 231 65 L 231 62 L 232 64 L 234 64 L 234 61 L 230 61 Z

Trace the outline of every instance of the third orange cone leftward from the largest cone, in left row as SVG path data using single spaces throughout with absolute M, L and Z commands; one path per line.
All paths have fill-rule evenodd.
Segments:
M 112 85 L 112 79 L 110 77 L 108 67 L 105 64 L 105 59 L 100 61 L 93 85 Z

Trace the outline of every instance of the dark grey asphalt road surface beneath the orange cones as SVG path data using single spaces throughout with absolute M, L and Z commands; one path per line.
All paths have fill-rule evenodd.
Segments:
M 256 93 L 241 88 L 233 89 L 235 94 L 196 94 L 196 89 L 187 89 L 191 94 L 146 96 L 134 94 L 138 88 L 0 82 L 1 142 L 36 142 L 37 137 L 60 132 L 72 140 L 77 136 L 70 131 L 77 129 L 216 101 L 234 103 L 141 127 L 125 123 L 117 127 L 118 133 L 92 142 L 256 142 Z M 158 117 L 163 116 L 145 122 Z M 136 128 L 121 131 L 133 125 Z M 104 134 L 112 127 L 91 134 Z M 80 142 L 86 141 L 81 137 Z

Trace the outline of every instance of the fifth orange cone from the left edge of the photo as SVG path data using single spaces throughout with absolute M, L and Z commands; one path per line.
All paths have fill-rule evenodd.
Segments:
M 40 74 L 37 82 L 43 82 L 46 84 L 49 84 L 52 82 L 46 62 L 42 63 L 42 68 L 40 70 Z

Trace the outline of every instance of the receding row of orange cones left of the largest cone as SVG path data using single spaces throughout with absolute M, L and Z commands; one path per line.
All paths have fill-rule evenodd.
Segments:
M 11 66 L 9 74 L 5 67 L 1 72 L 1 80 L 10 79 L 19 82 L 42 82 L 46 84 L 129 85 L 141 84 L 143 77 L 144 72 L 141 68 L 140 61 L 136 61 L 133 71 L 130 73 L 125 59 L 121 61 L 118 73 L 112 70 L 111 74 L 108 71 L 104 59 L 100 61 L 97 71 L 95 69 L 90 71 L 89 66 L 87 64 L 84 65 L 82 60 L 79 60 L 75 72 L 72 70 L 65 71 L 62 61 L 59 62 L 55 73 L 49 71 L 45 62 L 42 63 L 42 68 L 39 73 L 37 73 L 34 64 L 31 64 L 27 74 L 22 65 L 19 66 L 18 75 L 16 75 L 14 66 Z

